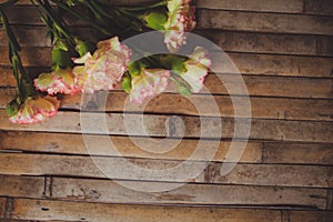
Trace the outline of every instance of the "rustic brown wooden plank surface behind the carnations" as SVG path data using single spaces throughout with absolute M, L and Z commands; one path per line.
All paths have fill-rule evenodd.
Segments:
M 141 0 L 142 1 L 142 0 Z M 139 0 L 119 1 L 138 3 Z M 46 28 L 29 1 L 8 11 L 31 74 L 50 64 Z M 223 141 L 214 162 L 176 190 L 141 193 L 110 181 L 93 164 L 80 134 L 80 95 L 64 97 L 60 113 L 43 123 L 11 124 L 4 107 L 13 97 L 8 46 L 0 32 L 0 219 L 3 221 L 276 221 L 329 222 L 333 218 L 333 1 L 198 0 L 196 32 L 213 40 L 243 73 L 252 103 L 250 142 L 236 168 L 219 173 L 231 142 L 233 109 L 216 75 L 206 79 L 221 110 Z M 87 30 L 73 23 L 78 30 Z M 89 32 L 88 32 L 89 34 Z M 223 74 L 223 73 L 220 73 Z M 232 83 L 232 74 L 223 74 Z M 154 137 L 167 135 L 170 114 L 185 120 L 188 139 L 164 154 L 138 149 L 114 125 L 127 94 L 108 99 L 112 140 L 142 165 L 178 164 L 194 150 L 199 118 L 184 98 L 164 93 L 147 108 Z M 95 95 L 98 102 L 99 95 Z M 205 101 L 204 94 L 193 99 Z M 133 107 L 135 111 L 135 107 Z M 165 114 L 167 113 L 167 114 Z M 209 117 L 212 114 L 206 111 Z M 134 114 L 135 115 L 135 114 Z M 108 155 L 95 140 L 93 154 Z M 141 138 L 144 140 L 144 138 Z M 210 141 L 206 141 L 210 147 Z M 209 152 L 209 149 L 208 149 Z M 198 160 L 198 161 L 204 161 Z M 127 180 L 123 175 L 114 180 Z M 155 184 L 164 181 L 130 181 Z M 175 181 L 176 182 L 176 181 Z

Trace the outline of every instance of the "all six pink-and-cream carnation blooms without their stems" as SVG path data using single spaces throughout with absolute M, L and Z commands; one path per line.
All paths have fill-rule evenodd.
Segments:
M 164 43 L 169 51 L 175 52 L 185 44 L 185 32 L 195 27 L 194 7 L 191 0 L 169 0 L 167 3 L 168 19 L 163 24 Z M 121 44 L 118 37 L 97 44 L 97 50 L 91 54 L 73 59 L 75 67 L 60 68 L 58 65 L 50 73 L 41 73 L 36 79 L 37 90 L 49 95 L 28 97 L 20 109 L 10 117 L 13 123 L 34 123 L 54 115 L 60 105 L 56 97 L 61 94 L 75 94 L 78 92 L 93 93 L 98 90 L 113 90 L 128 71 L 132 51 Z M 148 98 L 164 92 L 172 79 L 172 74 L 186 82 L 189 92 L 199 92 L 203 88 L 204 78 L 211 65 L 206 51 L 196 47 L 188 57 L 181 71 L 143 68 L 130 78 L 130 101 L 141 104 Z

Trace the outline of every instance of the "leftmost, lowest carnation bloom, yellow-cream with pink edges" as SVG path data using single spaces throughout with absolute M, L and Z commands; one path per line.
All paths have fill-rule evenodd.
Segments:
M 9 120 L 19 124 L 40 122 L 57 114 L 59 105 L 60 102 L 54 97 L 28 98 Z

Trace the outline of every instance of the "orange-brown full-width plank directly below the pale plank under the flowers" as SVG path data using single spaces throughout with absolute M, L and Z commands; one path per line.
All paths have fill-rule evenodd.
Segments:
M 85 135 L 94 144 L 89 150 L 93 155 L 119 155 L 125 158 L 145 158 L 160 160 L 186 160 L 196 149 L 196 142 L 182 140 L 180 144 L 165 153 L 144 151 L 129 138 L 110 137 L 119 153 L 110 153 L 109 145 L 103 142 L 104 137 Z M 48 140 L 44 140 L 48 138 Z M 142 138 L 140 143 L 147 139 Z M 67 154 L 88 154 L 82 135 L 64 133 L 43 133 L 43 132 L 0 132 L 0 144 L 3 151 L 42 152 L 42 153 L 67 153 Z M 202 151 L 202 157 L 208 157 L 214 142 L 202 141 L 206 148 Z M 148 143 L 149 144 L 149 143 Z M 263 147 L 263 148 L 262 148 Z M 151 147 L 152 149 L 153 147 Z M 224 161 L 225 153 L 230 148 L 230 142 L 221 141 L 220 148 L 214 157 L 214 161 Z M 263 151 L 262 151 L 263 149 Z M 204 160 L 204 158 L 198 159 Z M 284 143 L 274 142 L 263 144 L 261 142 L 248 142 L 240 162 L 243 163 L 287 163 L 287 164 L 316 164 L 333 165 L 332 144 L 325 143 Z

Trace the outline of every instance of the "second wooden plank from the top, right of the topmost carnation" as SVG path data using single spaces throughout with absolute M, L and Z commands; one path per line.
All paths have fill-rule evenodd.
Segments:
M 201 10 L 198 17 L 201 29 L 333 36 L 331 17 L 215 10 Z

